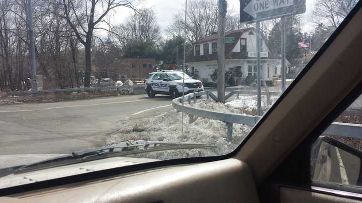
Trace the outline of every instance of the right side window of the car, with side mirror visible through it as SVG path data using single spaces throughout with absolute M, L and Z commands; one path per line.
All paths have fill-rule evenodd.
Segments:
M 359 96 L 315 141 L 311 181 L 362 188 L 362 96 Z

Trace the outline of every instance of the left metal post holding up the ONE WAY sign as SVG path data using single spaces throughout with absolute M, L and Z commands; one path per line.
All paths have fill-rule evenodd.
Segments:
M 260 22 L 256 21 L 257 114 L 261 116 Z

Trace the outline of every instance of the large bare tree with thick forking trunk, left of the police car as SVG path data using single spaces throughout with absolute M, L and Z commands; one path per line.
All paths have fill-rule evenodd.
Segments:
M 121 0 L 62 0 L 64 9 L 64 18 L 75 33 L 78 41 L 84 46 L 85 52 L 85 75 L 84 86 L 89 87 L 92 72 L 92 40 L 94 31 L 97 29 L 106 30 L 97 27 L 100 23 L 107 23 L 104 19 L 107 14 L 118 8 L 127 7 L 134 9 L 132 1 Z M 97 12 L 97 13 L 96 13 Z

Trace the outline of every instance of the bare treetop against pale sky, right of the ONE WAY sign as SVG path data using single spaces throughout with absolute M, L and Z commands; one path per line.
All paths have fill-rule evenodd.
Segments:
M 357 2 L 358 0 L 316 0 L 313 15 L 328 21 L 330 26 L 337 28 Z

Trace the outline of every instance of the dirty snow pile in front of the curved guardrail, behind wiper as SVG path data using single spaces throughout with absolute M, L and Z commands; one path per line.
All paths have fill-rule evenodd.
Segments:
M 121 129 L 111 135 L 106 145 L 117 144 L 125 140 L 158 140 L 181 141 L 216 145 L 217 149 L 184 149 L 151 152 L 133 155 L 133 157 L 171 159 L 196 156 L 215 156 L 226 154 L 234 150 L 251 130 L 250 126 L 234 124 L 233 139 L 226 141 L 226 125 L 221 121 L 196 118 L 190 124 L 189 116 L 184 117 L 184 134 L 181 133 L 182 113 L 176 110 L 160 115 L 143 118 L 140 120 L 128 120 L 119 123 Z

